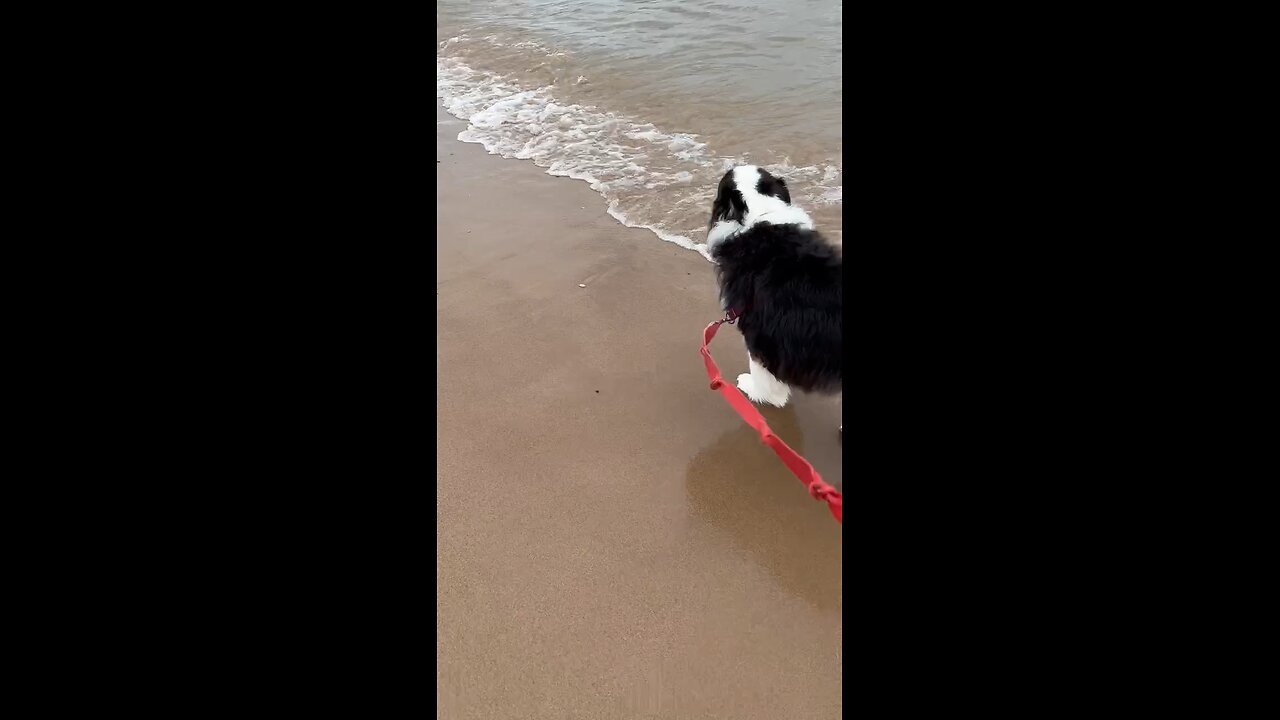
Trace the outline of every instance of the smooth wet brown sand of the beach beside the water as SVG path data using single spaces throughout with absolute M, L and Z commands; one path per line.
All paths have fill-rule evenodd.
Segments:
M 436 717 L 838 717 L 842 529 L 707 387 L 712 265 L 436 120 Z M 844 489 L 838 401 L 763 413 Z

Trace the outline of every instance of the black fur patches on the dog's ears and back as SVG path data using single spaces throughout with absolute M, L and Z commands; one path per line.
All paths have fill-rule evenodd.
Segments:
M 791 204 L 782 178 L 763 168 L 756 191 Z M 712 225 L 742 223 L 748 213 L 733 170 L 721 179 Z M 773 377 L 808 392 L 842 387 L 844 327 L 841 252 L 797 224 L 762 220 L 712 250 L 726 309 L 742 313 L 737 327 L 748 352 Z

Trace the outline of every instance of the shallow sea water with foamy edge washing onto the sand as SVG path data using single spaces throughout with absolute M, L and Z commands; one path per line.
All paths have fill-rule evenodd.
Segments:
M 841 24 L 842 0 L 438 0 L 436 96 L 460 140 L 586 181 L 684 247 L 704 252 L 740 163 L 840 242 Z

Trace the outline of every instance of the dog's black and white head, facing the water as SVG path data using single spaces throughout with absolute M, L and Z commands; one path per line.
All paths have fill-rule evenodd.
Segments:
M 707 243 L 714 245 L 758 222 L 813 228 L 809 215 L 791 205 L 787 181 L 764 168 L 739 165 L 724 173 L 716 188 L 712 219 L 707 224 Z

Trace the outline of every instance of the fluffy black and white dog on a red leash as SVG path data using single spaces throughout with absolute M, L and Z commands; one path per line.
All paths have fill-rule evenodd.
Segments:
M 741 314 L 751 372 L 739 389 L 777 407 L 791 388 L 841 392 L 841 249 L 791 205 L 787 183 L 755 165 L 724 173 L 707 247 L 723 307 Z

